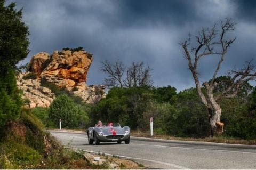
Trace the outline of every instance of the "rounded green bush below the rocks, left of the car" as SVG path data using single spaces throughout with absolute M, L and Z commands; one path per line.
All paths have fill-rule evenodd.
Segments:
M 49 108 L 49 118 L 57 126 L 61 119 L 63 128 L 77 128 L 83 121 L 87 122 L 88 120 L 85 110 L 66 94 L 53 100 Z

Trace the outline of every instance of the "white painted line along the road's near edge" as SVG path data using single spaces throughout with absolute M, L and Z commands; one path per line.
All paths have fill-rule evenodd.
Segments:
M 67 147 L 67 148 L 69 148 L 69 147 Z M 84 152 L 91 152 L 91 153 L 100 153 L 100 154 L 103 154 L 103 152 L 95 152 L 95 151 L 84 150 L 84 149 L 78 149 L 78 148 L 69 148 L 69 149 L 75 149 L 75 150 L 84 151 Z M 105 154 L 105 155 L 108 155 L 108 156 L 113 156 L 113 154 L 110 154 L 110 153 L 104 153 L 104 154 Z M 150 161 L 150 162 L 153 162 L 153 163 L 168 165 L 168 166 L 172 166 L 172 167 L 179 168 L 179 169 L 190 169 L 190 168 L 185 167 L 185 166 L 180 166 L 180 165 L 175 165 L 175 164 L 171 164 L 171 163 L 166 163 L 166 162 L 163 162 L 163 161 L 157 161 L 157 160 L 151 160 L 151 159 L 143 159 L 143 158 L 136 158 L 136 157 L 127 157 L 127 156 L 122 156 L 122 155 L 115 155 L 115 156 L 121 157 L 121 158 L 126 158 L 126 159 L 135 159 L 135 160 Z

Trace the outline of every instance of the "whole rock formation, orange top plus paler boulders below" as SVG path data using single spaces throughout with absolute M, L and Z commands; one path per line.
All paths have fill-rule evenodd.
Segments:
M 78 50 L 77 50 L 78 49 Z M 105 87 L 87 86 L 87 73 L 93 61 L 93 55 L 81 48 L 54 51 L 52 55 L 41 52 L 33 56 L 29 63 L 29 72 L 17 76 L 17 85 L 23 90 L 23 98 L 29 99 L 28 106 L 49 107 L 55 94 L 49 88 L 41 86 L 41 79 L 66 88 L 87 103 L 96 103 L 106 94 Z M 27 74 L 36 74 L 37 79 L 24 79 Z

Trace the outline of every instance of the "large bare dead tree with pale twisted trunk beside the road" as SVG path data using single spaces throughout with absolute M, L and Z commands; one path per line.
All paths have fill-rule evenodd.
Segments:
M 229 39 L 227 34 L 230 31 L 235 29 L 235 23 L 231 21 L 231 19 L 226 19 L 226 21 L 221 21 L 220 29 L 217 29 L 217 25 L 215 24 L 212 28 L 202 28 L 199 31 L 198 35 L 195 36 L 196 46 L 190 47 L 191 44 L 191 36 L 189 34 L 189 38 L 181 43 L 181 46 L 185 53 L 185 58 L 188 60 L 189 69 L 193 75 L 196 90 L 198 95 L 200 96 L 204 105 L 209 109 L 209 121 L 211 125 L 211 135 L 213 136 L 216 130 L 220 133 L 223 132 L 224 124 L 221 122 L 221 107 L 220 104 L 217 103 L 219 98 L 233 98 L 237 95 L 239 87 L 249 80 L 255 80 L 256 72 L 255 67 L 252 65 L 252 61 L 246 62 L 246 66 L 244 69 L 233 69 L 229 71 L 229 76 L 231 77 L 230 85 L 223 91 L 221 94 L 214 96 L 213 91 L 215 86 L 217 86 L 217 82 L 215 81 L 220 66 L 227 54 L 228 48 L 231 44 L 234 43 L 236 38 Z M 210 82 L 204 82 L 203 86 L 206 90 L 206 93 L 203 93 L 201 90 L 201 83 L 198 78 L 198 70 L 197 64 L 199 59 L 202 59 L 207 55 L 219 55 L 220 59 L 215 68 L 213 76 Z M 218 128 L 220 127 L 220 128 Z

